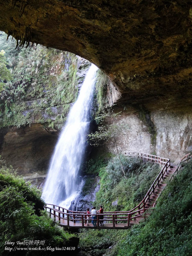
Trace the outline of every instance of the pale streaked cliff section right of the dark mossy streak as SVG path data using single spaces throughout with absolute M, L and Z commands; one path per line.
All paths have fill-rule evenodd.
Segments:
M 192 111 L 162 110 L 152 112 L 156 126 L 156 152 L 178 161 L 192 151 Z

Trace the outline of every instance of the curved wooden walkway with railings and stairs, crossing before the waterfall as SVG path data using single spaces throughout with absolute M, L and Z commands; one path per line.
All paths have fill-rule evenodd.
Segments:
M 150 161 L 158 163 L 162 166 L 160 173 L 154 180 L 150 189 L 148 190 L 144 199 L 130 211 L 124 212 L 104 212 L 103 214 L 97 214 L 96 226 L 92 224 L 92 215 L 90 214 L 89 225 L 86 225 L 87 214 L 86 212 L 71 211 L 61 206 L 53 204 L 46 204 L 45 208 L 48 211 L 50 218 L 59 222 L 60 226 L 66 228 L 78 229 L 128 229 L 134 224 L 138 224 L 140 221 L 147 218 L 150 212 L 156 205 L 158 196 L 166 186 L 166 180 L 169 179 L 174 172 L 176 172 L 178 166 L 172 166 L 170 160 L 167 158 L 161 158 L 146 153 L 140 152 L 125 152 L 126 156 L 141 158 L 144 161 Z M 100 226 L 99 216 L 103 215 L 104 226 Z

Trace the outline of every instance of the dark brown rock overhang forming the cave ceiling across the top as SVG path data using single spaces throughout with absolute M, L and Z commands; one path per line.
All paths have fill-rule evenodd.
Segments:
M 121 92 L 119 104 L 192 104 L 192 2 L 0 0 L 0 30 L 78 54 Z

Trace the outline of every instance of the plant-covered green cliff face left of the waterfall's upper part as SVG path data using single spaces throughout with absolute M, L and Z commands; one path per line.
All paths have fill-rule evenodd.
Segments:
M 78 56 L 42 46 L 15 46 L 15 40 L 6 42 L 6 34 L 0 34 L 0 49 L 12 73 L 0 94 L 0 127 L 40 122 L 60 128 L 78 95 Z

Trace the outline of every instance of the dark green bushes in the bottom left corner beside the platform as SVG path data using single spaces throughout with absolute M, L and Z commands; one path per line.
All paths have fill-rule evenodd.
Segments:
M 66 246 L 72 235 L 62 231 L 43 210 L 44 202 L 40 192 L 31 188 L 22 178 L 16 177 L 11 166 L 6 166 L 0 158 L 0 255 L 57 255 L 51 251 L 34 250 L 9 252 L 6 241 L 44 241 L 41 247 Z M 9 246 L 10 247 L 10 246 Z M 18 246 L 19 247 L 19 246 Z M 22 247 L 22 246 L 21 246 Z M 23 246 L 27 247 L 27 246 Z M 31 244 L 31 248 L 37 244 Z

